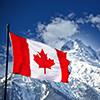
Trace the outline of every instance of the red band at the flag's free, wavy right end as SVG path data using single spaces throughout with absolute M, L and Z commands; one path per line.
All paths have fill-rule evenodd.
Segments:
M 68 83 L 68 77 L 70 72 L 68 71 L 68 65 L 69 65 L 69 61 L 66 59 L 66 53 L 57 50 L 57 56 L 59 59 L 59 63 L 60 63 L 60 67 L 61 67 L 61 72 L 62 72 L 62 79 L 61 82 L 66 82 Z

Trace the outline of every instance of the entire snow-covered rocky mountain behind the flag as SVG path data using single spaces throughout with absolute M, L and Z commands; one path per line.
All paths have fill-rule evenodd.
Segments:
M 37 80 L 21 75 L 8 75 L 7 100 L 100 100 L 100 52 L 81 40 L 68 41 L 69 83 Z M 0 79 L 3 100 L 5 78 Z

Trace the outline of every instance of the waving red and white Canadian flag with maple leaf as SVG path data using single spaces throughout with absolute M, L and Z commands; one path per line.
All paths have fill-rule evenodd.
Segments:
M 68 83 L 70 72 L 67 52 L 25 39 L 10 32 L 13 49 L 13 73 L 24 76 Z

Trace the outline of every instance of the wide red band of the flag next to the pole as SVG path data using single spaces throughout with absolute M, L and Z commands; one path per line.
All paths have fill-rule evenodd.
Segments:
M 13 48 L 13 73 L 31 75 L 29 49 L 25 38 L 10 32 Z

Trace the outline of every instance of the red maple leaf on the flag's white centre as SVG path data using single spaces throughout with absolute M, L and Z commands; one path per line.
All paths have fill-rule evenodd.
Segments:
M 44 68 L 44 74 L 46 74 L 46 68 L 51 69 L 51 66 L 55 64 L 54 60 L 47 58 L 47 54 L 44 53 L 43 49 L 37 55 L 33 54 L 33 56 L 33 60 L 39 65 L 39 68 Z

